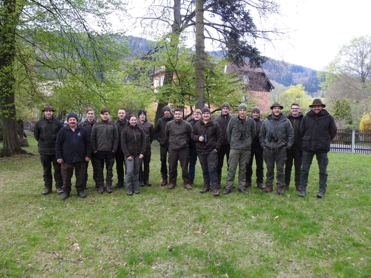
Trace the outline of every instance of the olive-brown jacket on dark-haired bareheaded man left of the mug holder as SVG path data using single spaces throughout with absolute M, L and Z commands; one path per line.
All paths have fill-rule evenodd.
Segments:
M 166 124 L 165 135 L 172 150 L 183 150 L 188 147 L 191 137 L 192 126 L 187 121 L 180 119 L 173 120 Z

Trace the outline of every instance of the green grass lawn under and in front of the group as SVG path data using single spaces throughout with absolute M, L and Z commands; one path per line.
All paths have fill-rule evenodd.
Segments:
M 54 184 L 41 195 L 42 166 L 28 139 L 35 156 L 0 159 L 0 277 L 371 275 L 371 155 L 329 153 L 323 199 L 315 160 L 305 198 L 295 186 L 279 196 L 255 182 L 249 195 L 214 198 L 198 193 L 199 164 L 193 190 L 161 187 L 156 142 L 152 187 L 100 195 L 89 165 L 88 197 L 72 188 L 63 202 Z

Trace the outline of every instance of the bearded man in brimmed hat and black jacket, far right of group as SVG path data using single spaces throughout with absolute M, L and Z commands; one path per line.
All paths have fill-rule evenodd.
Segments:
M 306 113 L 300 125 L 299 136 L 302 139 L 302 168 L 300 175 L 300 194 L 305 197 L 308 173 L 311 168 L 313 156 L 316 155 L 319 168 L 319 192 L 318 198 L 325 195 L 327 187 L 327 165 L 330 144 L 336 135 L 336 123 L 334 117 L 328 113 L 321 99 L 314 99 L 312 110 Z

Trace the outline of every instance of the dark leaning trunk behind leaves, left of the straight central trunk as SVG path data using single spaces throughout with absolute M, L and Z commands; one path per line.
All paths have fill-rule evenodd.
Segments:
M 180 24 L 181 14 L 180 14 L 180 0 L 174 0 L 174 23 L 171 25 L 171 33 L 179 35 L 179 24 Z M 176 47 L 177 43 L 174 42 L 173 37 L 171 37 L 170 47 Z M 165 77 L 164 77 L 164 85 L 171 84 L 173 82 L 173 73 L 174 70 L 170 68 L 166 68 Z M 162 117 L 162 109 L 164 106 L 168 105 L 168 103 L 161 103 L 159 102 L 156 109 L 156 116 L 155 116 L 155 125 L 157 120 Z

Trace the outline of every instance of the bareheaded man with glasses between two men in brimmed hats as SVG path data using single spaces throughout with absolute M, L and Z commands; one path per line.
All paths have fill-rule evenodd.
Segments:
M 294 129 L 294 143 L 290 149 L 287 151 L 287 160 L 285 163 L 285 187 L 283 189 L 288 189 L 291 181 L 291 169 L 292 169 L 292 160 L 294 161 L 295 166 L 295 188 L 297 191 L 300 191 L 300 168 L 302 162 L 302 149 L 301 149 L 301 138 L 299 136 L 300 124 L 303 119 L 303 113 L 299 112 L 300 106 L 299 103 L 292 103 L 291 112 L 287 116 L 289 119 L 292 128 Z

